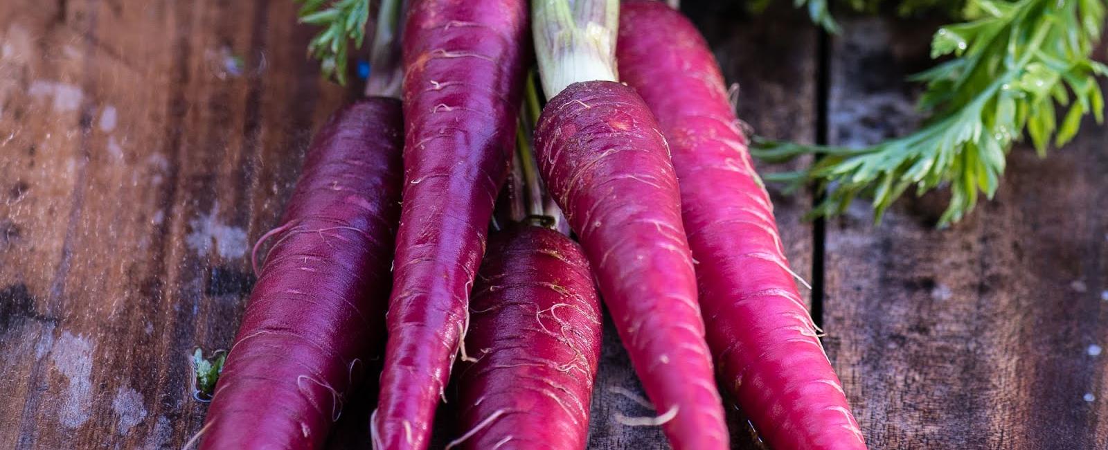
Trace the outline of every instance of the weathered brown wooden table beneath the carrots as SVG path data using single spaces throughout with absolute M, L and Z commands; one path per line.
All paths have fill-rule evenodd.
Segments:
M 916 124 L 903 79 L 934 22 L 825 38 L 787 6 L 700 3 L 759 133 L 861 144 Z M 189 355 L 228 346 L 252 243 L 356 92 L 319 79 L 294 17 L 289 0 L 0 2 L 0 448 L 181 448 L 199 428 Z M 876 226 L 864 204 L 812 224 L 810 195 L 776 196 L 872 448 L 1108 448 L 1106 140 L 1086 123 L 1046 160 L 1016 149 L 996 200 L 943 231 L 943 194 Z M 639 388 L 607 335 L 593 447 L 664 448 L 613 420 L 649 411 L 611 391 Z M 735 447 L 756 448 L 733 416 Z

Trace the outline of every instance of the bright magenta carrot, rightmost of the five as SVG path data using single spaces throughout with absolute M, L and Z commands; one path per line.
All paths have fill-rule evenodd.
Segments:
M 616 54 L 669 141 L 724 385 L 772 448 L 864 449 L 704 38 L 660 2 L 625 2 Z

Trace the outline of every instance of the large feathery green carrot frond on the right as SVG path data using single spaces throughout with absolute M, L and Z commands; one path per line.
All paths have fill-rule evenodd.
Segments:
M 926 84 L 920 108 L 929 115 L 912 134 L 861 149 L 755 140 L 767 161 L 803 154 L 819 158 L 807 171 L 767 177 L 793 186 L 815 182 L 824 200 L 812 215 L 843 213 L 854 197 L 872 197 L 876 219 L 911 187 L 917 195 L 948 186 L 940 226 L 961 219 L 981 194 L 992 198 L 1014 142 L 1027 135 L 1040 155 L 1068 143 L 1081 117 L 1104 120 L 1091 60 L 1105 19 L 1104 0 L 971 0 L 971 21 L 941 28 L 932 58 L 951 57 L 912 78 Z M 1065 119 L 1056 121 L 1061 108 Z

